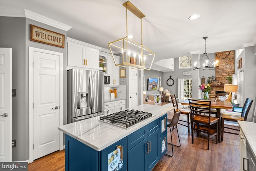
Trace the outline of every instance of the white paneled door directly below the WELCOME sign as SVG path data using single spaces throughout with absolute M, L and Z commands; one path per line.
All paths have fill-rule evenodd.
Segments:
M 60 149 L 60 55 L 35 50 L 33 55 L 34 154 L 37 159 Z

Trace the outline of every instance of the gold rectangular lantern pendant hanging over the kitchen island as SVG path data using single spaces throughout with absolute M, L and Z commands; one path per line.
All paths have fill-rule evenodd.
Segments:
M 114 63 L 120 67 L 150 70 L 156 54 L 142 44 L 142 18 L 145 15 L 129 1 L 125 2 L 123 6 L 126 8 L 126 37 L 108 43 Z M 141 43 L 128 38 L 127 10 L 141 19 Z M 117 52 L 122 52 L 120 64 L 114 58 L 114 54 Z

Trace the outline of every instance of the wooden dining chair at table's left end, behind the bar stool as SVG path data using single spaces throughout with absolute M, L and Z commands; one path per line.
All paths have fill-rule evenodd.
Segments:
M 171 99 L 172 99 L 172 105 L 174 107 L 174 113 L 180 111 L 180 114 L 187 116 L 187 120 L 186 121 L 184 121 L 182 119 L 179 119 L 179 121 L 186 122 L 186 125 L 183 124 L 183 123 L 178 123 L 178 124 L 188 127 L 188 133 L 190 133 L 190 119 L 189 119 L 190 109 L 179 109 L 178 101 L 176 99 L 175 94 L 171 95 Z

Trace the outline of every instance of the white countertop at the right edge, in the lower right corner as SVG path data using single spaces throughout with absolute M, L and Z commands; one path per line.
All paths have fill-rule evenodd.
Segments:
M 256 159 L 256 123 L 248 121 L 238 121 L 240 128 L 244 133 L 244 137 L 248 142 L 250 149 Z

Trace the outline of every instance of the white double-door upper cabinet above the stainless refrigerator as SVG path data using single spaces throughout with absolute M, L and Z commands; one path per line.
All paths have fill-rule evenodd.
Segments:
M 95 48 L 89 47 L 93 45 L 71 38 L 67 38 L 67 44 L 68 66 L 99 70 L 99 48 L 97 49 L 96 46 Z

